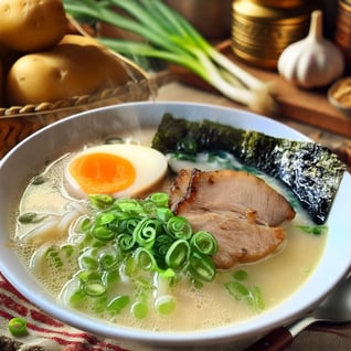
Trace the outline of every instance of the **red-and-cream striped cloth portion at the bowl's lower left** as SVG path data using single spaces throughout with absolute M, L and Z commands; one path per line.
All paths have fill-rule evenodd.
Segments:
M 22 317 L 28 336 L 13 338 L 8 321 Z M 30 304 L 0 274 L 0 350 L 124 351 L 117 342 L 100 339 L 57 321 Z

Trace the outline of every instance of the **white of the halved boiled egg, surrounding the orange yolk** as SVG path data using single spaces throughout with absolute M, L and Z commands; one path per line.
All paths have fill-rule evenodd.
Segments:
M 83 191 L 78 182 L 70 172 L 71 163 L 78 157 L 89 153 L 110 153 L 127 159 L 136 170 L 135 181 L 124 190 L 110 195 L 114 198 L 135 198 L 151 191 L 166 176 L 168 160 L 163 153 L 150 147 L 140 145 L 99 145 L 89 147 L 74 155 L 64 170 L 64 188 L 75 199 L 86 199 L 88 194 Z

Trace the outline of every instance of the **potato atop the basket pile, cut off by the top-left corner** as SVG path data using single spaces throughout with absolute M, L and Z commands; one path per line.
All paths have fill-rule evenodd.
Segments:
M 62 0 L 0 0 L 0 44 L 33 52 L 57 44 L 67 20 Z

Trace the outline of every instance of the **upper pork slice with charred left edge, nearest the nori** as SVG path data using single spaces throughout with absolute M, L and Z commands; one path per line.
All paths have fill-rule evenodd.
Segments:
M 263 179 L 244 171 L 182 170 L 171 187 L 171 209 L 189 211 L 232 211 L 255 215 L 256 222 L 281 225 L 295 217 L 290 203 Z

